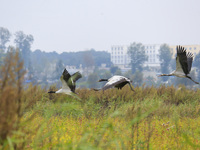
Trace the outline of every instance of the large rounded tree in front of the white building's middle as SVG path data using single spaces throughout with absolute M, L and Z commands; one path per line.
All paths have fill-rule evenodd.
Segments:
M 142 71 L 142 67 L 148 56 L 145 55 L 145 49 L 142 43 L 132 43 L 128 47 L 128 55 L 131 58 L 131 70 L 135 73 L 136 70 Z

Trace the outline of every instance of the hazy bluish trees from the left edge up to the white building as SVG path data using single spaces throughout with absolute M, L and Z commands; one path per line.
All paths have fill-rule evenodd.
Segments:
M 11 36 L 13 36 L 13 41 L 10 41 Z M 13 42 L 14 45 L 9 45 L 10 42 Z M 88 72 L 88 69 L 100 67 L 102 64 L 106 67 L 112 65 L 110 54 L 106 51 L 90 49 L 58 54 L 55 51 L 32 50 L 33 42 L 34 37 L 30 34 L 25 34 L 23 31 L 11 33 L 7 28 L 0 27 L 0 66 L 7 52 L 18 51 L 27 72 L 26 80 L 34 83 L 47 83 L 48 80 L 59 80 L 66 66 Z

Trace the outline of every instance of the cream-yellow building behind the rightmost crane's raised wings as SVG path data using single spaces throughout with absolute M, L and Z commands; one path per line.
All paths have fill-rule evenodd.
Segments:
M 170 50 L 171 50 L 171 52 L 173 54 L 173 58 L 176 57 L 176 46 L 177 45 L 171 45 L 171 46 L 169 46 Z M 200 45 L 197 45 L 197 44 L 194 44 L 194 45 L 181 45 L 181 46 L 185 47 L 185 49 L 188 52 L 193 53 L 194 56 L 196 56 L 200 52 Z

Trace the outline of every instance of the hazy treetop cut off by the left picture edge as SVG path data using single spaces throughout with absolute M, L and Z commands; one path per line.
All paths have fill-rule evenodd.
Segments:
M 6 50 L 6 43 L 10 41 L 11 33 L 8 29 L 0 27 L 0 50 Z

